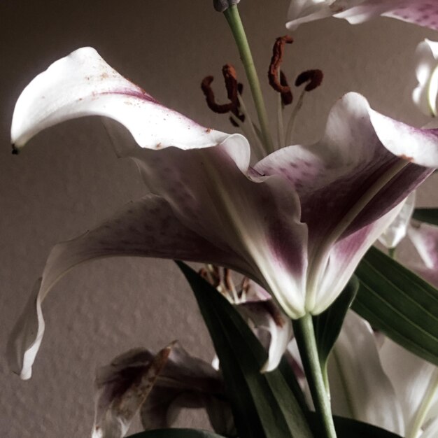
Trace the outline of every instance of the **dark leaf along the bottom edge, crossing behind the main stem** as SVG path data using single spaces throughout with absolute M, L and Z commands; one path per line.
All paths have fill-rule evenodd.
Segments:
M 323 437 L 324 431 L 319 428 L 314 412 L 311 412 L 310 418 L 313 419 L 311 424 L 313 425 L 312 430 L 315 436 Z M 333 420 L 338 438 L 401 438 L 400 435 L 396 435 L 393 432 L 362 423 L 362 421 L 351 420 L 351 418 L 334 416 Z

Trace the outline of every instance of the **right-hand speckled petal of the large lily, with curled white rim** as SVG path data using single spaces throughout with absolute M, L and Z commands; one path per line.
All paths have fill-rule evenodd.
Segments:
M 430 156 L 426 157 L 421 147 L 429 150 Z M 395 153 L 409 154 L 409 160 Z M 283 148 L 255 165 L 259 174 L 284 178 L 299 196 L 301 220 L 309 227 L 310 263 L 313 260 L 309 268 L 313 283 L 310 287 L 308 283 L 306 297 L 309 311 L 323 311 L 316 297 L 328 305 L 331 300 L 327 302 L 323 297 L 336 298 L 345 284 L 343 275 L 339 277 L 339 288 L 332 289 L 334 284 L 328 280 L 328 289 L 320 283 L 330 274 L 330 257 L 333 262 L 344 252 L 341 265 L 345 272 L 351 272 L 359 262 L 358 257 L 352 257 L 354 250 L 363 254 L 372 239 L 389 225 L 388 220 L 376 221 L 395 209 L 432 173 L 432 169 L 413 164 L 413 160 L 438 164 L 438 132 L 407 127 L 386 118 L 369 108 L 360 94 L 348 93 L 333 106 L 325 135 L 318 143 Z M 360 233 L 373 222 L 375 226 Z M 348 240 L 330 252 L 337 241 L 351 235 L 358 238 L 360 250 Z

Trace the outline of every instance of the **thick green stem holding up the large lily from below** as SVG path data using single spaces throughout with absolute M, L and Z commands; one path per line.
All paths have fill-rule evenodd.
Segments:
M 325 432 L 324 438 L 336 438 L 330 400 L 325 390 L 323 372 L 318 358 L 311 314 L 307 313 L 298 320 L 292 320 L 292 325 L 313 404 L 315 405 L 316 415 L 320 418 Z

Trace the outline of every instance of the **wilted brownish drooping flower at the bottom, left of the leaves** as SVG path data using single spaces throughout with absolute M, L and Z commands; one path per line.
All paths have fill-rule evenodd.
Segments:
M 178 343 L 119 355 L 97 371 L 96 387 L 93 438 L 125 437 L 139 411 L 145 430 L 169 428 L 183 408 L 206 409 L 216 432 L 235 435 L 220 372 Z

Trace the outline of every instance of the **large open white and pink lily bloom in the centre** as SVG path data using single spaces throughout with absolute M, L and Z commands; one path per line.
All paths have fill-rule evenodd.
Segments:
M 166 108 L 92 48 L 59 59 L 24 89 L 14 150 L 84 115 L 125 125 L 118 153 L 136 162 L 150 195 L 52 249 L 10 342 L 23 378 L 43 337 L 43 299 L 72 267 L 99 257 L 229 267 L 260 284 L 290 318 L 324 311 L 403 199 L 438 166 L 438 130 L 397 122 L 349 93 L 332 107 L 320 141 L 281 148 L 250 167 L 245 137 Z

